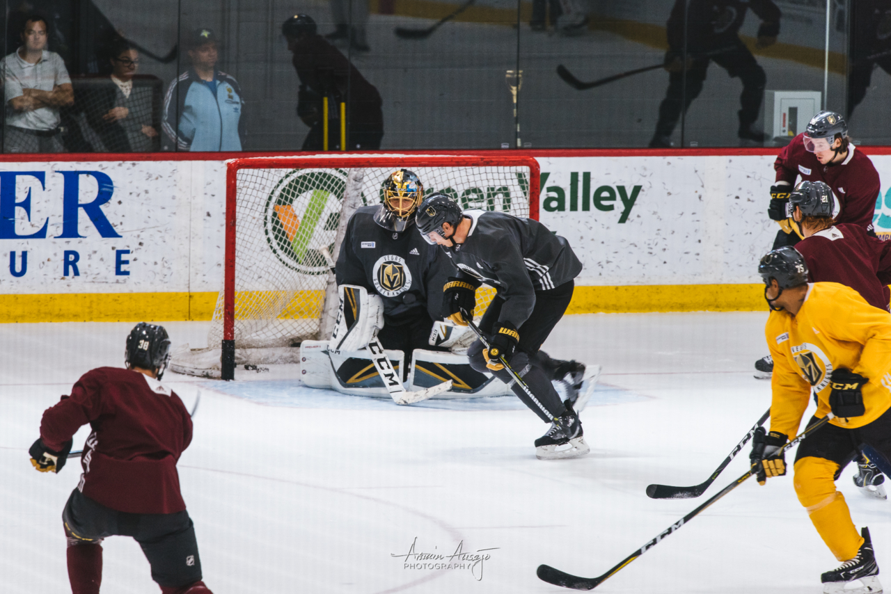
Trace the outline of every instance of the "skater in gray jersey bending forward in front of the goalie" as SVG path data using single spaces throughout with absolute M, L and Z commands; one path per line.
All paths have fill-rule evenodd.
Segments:
M 497 349 L 525 380 L 538 403 L 515 384 L 513 393 L 544 422 L 552 424 L 543 437 L 535 440 L 536 457 L 576 458 L 590 452 L 571 400 L 560 402 L 551 383 L 570 367 L 582 371 L 584 366 L 552 360 L 540 350 L 566 312 L 574 279 L 582 271 L 582 263 L 568 241 L 533 219 L 482 210 L 462 212 L 444 194 L 424 199 L 415 221 L 424 239 L 446 248 L 458 267 L 457 275 L 444 286 L 444 317 L 466 324 L 462 312 L 473 311 L 478 286 L 486 282 L 497 289 L 479 321 L 480 330 L 489 338 L 489 348 L 479 340 L 471 345 L 470 366 L 494 372 L 510 385 L 511 375 L 495 356 L 489 356 L 490 349 L 493 353 Z

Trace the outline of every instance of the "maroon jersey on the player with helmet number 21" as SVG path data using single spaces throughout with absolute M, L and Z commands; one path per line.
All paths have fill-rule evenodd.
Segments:
M 812 282 L 838 282 L 854 289 L 873 307 L 888 310 L 891 292 L 891 241 L 866 234 L 860 225 L 838 224 L 799 241 Z

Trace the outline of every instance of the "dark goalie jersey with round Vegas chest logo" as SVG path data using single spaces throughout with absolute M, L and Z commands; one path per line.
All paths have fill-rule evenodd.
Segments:
M 398 325 L 425 307 L 431 319 L 440 319 L 443 285 L 456 273 L 454 264 L 414 225 L 395 233 L 375 223 L 377 210 L 360 207 L 350 217 L 337 258 L 337 283 L 380 295 L 385 323 Z

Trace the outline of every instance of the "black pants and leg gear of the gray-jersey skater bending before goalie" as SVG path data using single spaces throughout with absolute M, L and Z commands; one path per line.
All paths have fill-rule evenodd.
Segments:
M 529 315 L 529 319 L 517 329 L 519 347 L 511 358 L 511 368 L 523 378 L 532 394 L 535 395 L 535 399 L 544 406 L 547 413 L 533 402 L 526 390 L 514 382 L 508 370 L 492 371 L 486 368 L 486 359 L 483 357 L 484 346 L 481 341 L 473 343 L 467 352 L 471 368 L 480 373 L 486 371 L 493 373 L 496 378 L 511 386 L 511 391 L 545 423 L 550 423 L 555 417 L 566 414 L 566 406 L 560 401 L 560 395 L 557 394 L 557 390 L 551 383 L 555 367 L 553 360 L 539 349 L 541 349 L 545 338 L 548 338 L 551 330 L 563 317 L 563 313 L 566 312 L 574 288 L 575 282 L 568 281 L 555 289 L 535 291 L 535 307 Z M 483 314 L 482 320 L 479 321 L 479 330 L 487 336 L 491 336 L 493 326 L 501 315 L 503 305 L 504 299 L 496 295 L 486 309 L 486 313 Z

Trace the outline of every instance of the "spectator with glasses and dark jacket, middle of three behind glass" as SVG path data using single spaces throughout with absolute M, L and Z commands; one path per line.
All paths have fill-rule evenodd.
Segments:
M 126 40 L 111 46 L 111 76 L 79 94 L 86 121 L 106 151 L 159 150 L 158 113 L 151 81 L 134 80 L 139 53 Z

